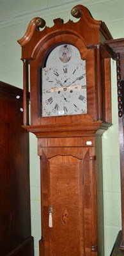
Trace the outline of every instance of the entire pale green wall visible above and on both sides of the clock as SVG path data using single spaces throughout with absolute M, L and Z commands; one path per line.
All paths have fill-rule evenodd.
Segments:
M 124 0 L 0 0 L 0 79 L 22 88 L 21 48 L 17 40 L 26 32 L 34 17 L 42 17 L 47 26 L 61 17 L 74 20 L 70 10 L 76 4 L 88 7 L 94 19 L 105 22 L 113 38 L 124 37 Z M 112 127 L 102 138 L 104 172 L 105 256 L 109 256 L 121 229 L 120 156 L 118 146 L 118 109 L 116 93 L 116 63 L 112 63 Z M 35 256 L 41 233 L 40 220 L 40 160 L 37 141 L 30 134 L 31 228 L 35 237 Z

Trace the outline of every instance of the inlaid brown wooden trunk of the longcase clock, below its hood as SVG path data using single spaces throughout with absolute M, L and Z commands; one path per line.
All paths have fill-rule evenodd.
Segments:
M 71 147 L 72 141 L 79 147 Z M 46 143 L 40 140 L 40 143 Z M 42 240 L 40 255 L 97 255 L 96 171 L 93 147 L 81 147 L 78 138 L 68 138 L 39 148 L 42 186 Z M 93 142 L 94 143 L 94 142 Z M 91 186 L 92 184 L 92 186 Z M 52 227 L 51 221 L 52 208 Z

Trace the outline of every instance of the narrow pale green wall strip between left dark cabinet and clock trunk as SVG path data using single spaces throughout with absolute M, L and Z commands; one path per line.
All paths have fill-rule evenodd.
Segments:
M 31 186 L 31 230 L 35 237 L 35 256 L 39 255 L 38 241 L 41 234 L 41 205 L 40 205 L 40 159 L 37 156 L 37 141 L 30 134 L 30 186 Z

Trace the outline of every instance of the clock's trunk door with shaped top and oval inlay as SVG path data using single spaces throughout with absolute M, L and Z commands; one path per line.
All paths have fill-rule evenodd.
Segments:
M 50 255 L 83 252 L 82 160 L 56 156 L 49 160 L 49 205 L 53 209 Z

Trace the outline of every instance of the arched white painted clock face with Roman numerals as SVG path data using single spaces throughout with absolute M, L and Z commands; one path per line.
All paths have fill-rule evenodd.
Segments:
M 73 45 L 59 45 L 42 68 L 42 116 L 86 113 L 86 60 Z

